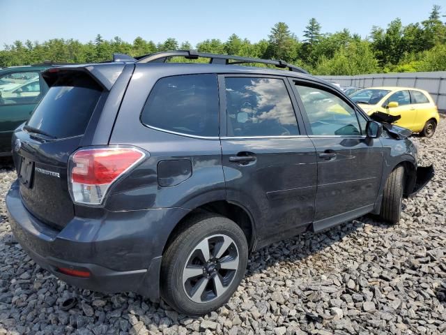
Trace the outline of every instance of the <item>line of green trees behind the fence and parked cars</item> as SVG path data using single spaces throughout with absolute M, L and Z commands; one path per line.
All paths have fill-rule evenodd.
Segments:
M 187 41 L 178 43 L 175 38 L 155 44 L 138 36 L 128 43 L 118 36 L 105 40 L 100 34 L 88 43 L 72 38 L 53 38 L 43 43 L 17 40 L 0 50 L 0 67 L 43 61 L 93 63 L 112 59 L 115 52 L 136 57 L 167 50 L 197 49 L 199 52 L 282 59 L 318 75 L 446 70 L 446 25 L 442 21 L 443 16 L 440 6 L 433 6 L 429 16 L 421 23 L 403 26 L 397 18 L 385 29 L 373 27 L 366 39 L 351 34 L 348 29 L 323 34 L 321 24 L 313 17 L 302 32 L 302 41 L 284 22 L 277 22 L 268 39 L 257 43 L 236 34 L 226 41 L 211 38 L 195 46 Z M 207 59 L 188 60 L 181 57 L 169 61 L 208 62 Z

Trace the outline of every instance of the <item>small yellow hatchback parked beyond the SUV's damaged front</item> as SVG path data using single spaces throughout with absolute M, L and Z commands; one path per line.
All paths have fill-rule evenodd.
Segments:
M 357 91 L 350 98 L 369 115 L 374 112 L 400 115 L 401 119 L 394 124 L 426 137 L 432 137 L 440 122 L 437 106 L 429 93 L 422 89 L 371 87 Z

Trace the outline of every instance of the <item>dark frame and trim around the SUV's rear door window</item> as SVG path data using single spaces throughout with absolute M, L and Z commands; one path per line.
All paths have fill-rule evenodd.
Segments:
M 300 110 L 297 102 L 295 101 L 294 92 L 289 84 L 289 77 L 286 75 L 267 75 L 262 73 L 224 73 L 218 75 L 219 77 L 219 89 L 221 92 L 220 95 L 220 114 L 222 117 L 220 118 L 220 139 L 221 140 L 233 140 L 233 139 L 259 139 L 259 138 L 295 138 L 295 137 L 306 137 L 305 128 L 302 126 L 304 124 L 302 117 L 300 116 Z M 284 82 L 286 92 L 290 98 L 291 106 L 293 107 L 294 117 L 296 121 L 296 125 L 298 126 L 298 135 L 255 135 L 255 136 L 229 136 L 227 135 L 228 124 L 227 124 L 227 107 L 226 107 L 226 77 L 234 78 L 234 77 L 242 77 L 242 78 L 270 78 L 282 80 Z M 220 84 L 221 82 L 221 84 Z

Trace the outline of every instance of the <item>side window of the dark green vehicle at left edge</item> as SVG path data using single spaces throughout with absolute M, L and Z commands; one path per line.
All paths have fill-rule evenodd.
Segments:
M 38 72 L 8 73 L 0 77 L 0 105 L 36 103 L 41 96 Z

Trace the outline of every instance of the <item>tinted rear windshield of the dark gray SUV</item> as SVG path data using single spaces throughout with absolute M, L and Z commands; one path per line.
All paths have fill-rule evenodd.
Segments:
M 83 135 L 101 93 L 89 75 L 61 74 L 34 110 L 28 126 L 56 138 Z

